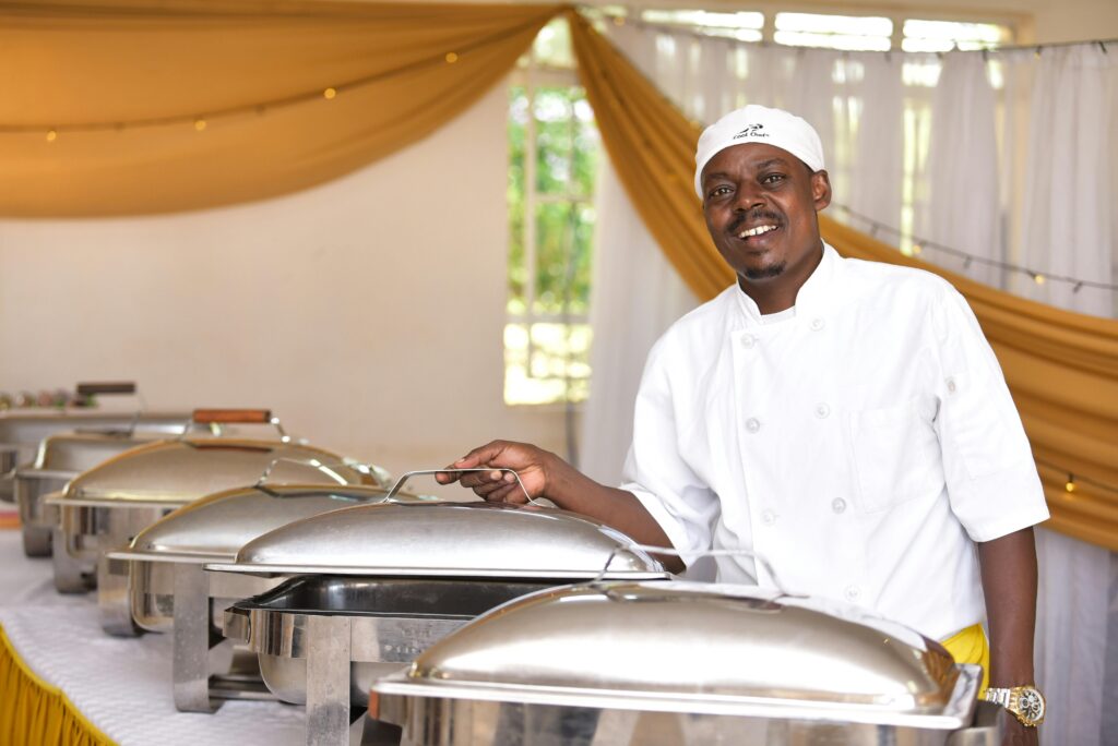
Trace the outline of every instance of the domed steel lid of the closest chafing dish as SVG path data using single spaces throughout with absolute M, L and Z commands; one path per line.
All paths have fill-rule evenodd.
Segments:
M 591 583 L 499 606 L 372 690 L 955 729 L 969 725 L 980 676 L 850 606 L 740 586 Z

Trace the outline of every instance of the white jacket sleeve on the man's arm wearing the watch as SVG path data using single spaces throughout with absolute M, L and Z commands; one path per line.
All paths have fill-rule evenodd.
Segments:
M 978 321 L 950 287 L 930 313 L 939 362 L 936 427 L 951 510 L 975 542 L 1045 520 L 1029 440 Z

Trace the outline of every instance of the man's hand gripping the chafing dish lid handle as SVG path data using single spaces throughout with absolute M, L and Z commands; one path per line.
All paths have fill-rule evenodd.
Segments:
M 490 503 L 527 503 L 528 497 L 547 497 L 548 472 L 571 467 L 555 453 L 531 446 L 508 440 L 494 440 L 481 448 L 475 448 L 461 459 L 440 471 L 435 479 L 440 485 L 455 481 Z M 449 471 L 449 469 L 492 469 L 492 471 Z M 520 476 L 498 469 L 512 469 Z M 528 495 L 524 495 L 524 490 Z

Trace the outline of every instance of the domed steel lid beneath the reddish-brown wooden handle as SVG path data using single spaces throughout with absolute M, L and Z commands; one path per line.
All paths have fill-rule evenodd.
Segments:
M 183 503 L 260 478 L 275 484 L 376 484 L 363 465 L 313 446 L 271 440 L 161 440 L 120 453 L 75 477 L 65 505 L 82 501 Z

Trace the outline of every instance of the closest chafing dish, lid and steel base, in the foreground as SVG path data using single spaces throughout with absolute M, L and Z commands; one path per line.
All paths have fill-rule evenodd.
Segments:
M 975 727 L 980 680 L 864 610 L 593 582 L 462 627 L 373 683 L 369 716 L 409 746 L 995 744 L 996 712 Z

